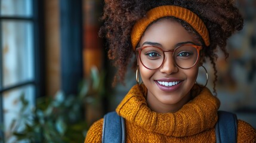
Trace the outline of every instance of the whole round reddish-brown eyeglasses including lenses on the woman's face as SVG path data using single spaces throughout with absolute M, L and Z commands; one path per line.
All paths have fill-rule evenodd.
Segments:
M 147 69 L 155 70 L 161 67 L 165 61 L 165 52 L 173 52 L 172 57 L 175 65 L 181 69 L 190 69 L 198 62 L 201 49 L 202 46 L 193 44 L 181 45 L 170 50 L 149 45 L 136 48 L 136 51 L 138 51 L 141 63 Z

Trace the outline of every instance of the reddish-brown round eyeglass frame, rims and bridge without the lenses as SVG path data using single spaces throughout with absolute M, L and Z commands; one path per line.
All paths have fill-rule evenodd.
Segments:
M 176 60 L 175 60 L 175 58 L 174 58 L 174 52 L 175 52 L 175 50 L 178 49 L 178 48 L 180 48 L 181 46 L 193 46 L 194 48 L 196 48 L 196 51 L 198 52 L 198 57 L 196 58 L 195 64 L 193 64 L 193 65 L 192 65 L 191 67 L 189 67 L 189 68 L 183 68 L 183 67 L 178 66 L 178 64 L 177 64 L 177 62 L 176 62 Z M 172 58 L 174 59 L 174 63 L 175 63 L 176 66 L 180 67 L 181 69 L 185 69 L 185 70 L 186 70 L 186 69 L 190 69 L 190 68 L 194 67 L 194 66 L 196 65 L 196 63 L 198 63 L 198 59 L 199 59 L 199 56 L 200 56 L 200 51 L 201 51 L 201 49 L 202 49 L 202 46 L 201 46 L 201 45 L 195 45 L 195 44 L 191 44 L 191 43 L 189 43 L 189 44 L 184 44 L 184 45 L 179 45 L 179 46 L 177 46 L 176 48 L 174 48 L 174 49 L 169 49 L 169 50 L 164 50 L 164 49 L 160 48 L 159 46 L 153 46 L 153 45 L 150 45 L 150 46 L 142 46 L 142 47 L 136 48 L 136 51 L 138 51 L 138 55 L 139 55 L 140 61 L 141 61 L 141 51 L 142 51 L 144 48 L 147 48 L 147 47 L 158 48 L 158 49 L 160 49 L 160 50 L 164 53 L 164 59 L 163 59 L 163 61 L 162 61 L 162 64 L 161 64 L 158 68 L 156 68 L 156 69 L 159 69 L 159 68 L 162 67 L 162 65 L 164 64 L 164 61 L 165 61 L 165 52 L 172 52 Z M 146 67 L 146 66 L 143 64 L 142 61 L 141 61 L 141 64 L 142 64 L 144 67 Z M 146 67 L 146 69 L 149 69 L 149 68 Z M 149 70 L 156 70 L 156 69 L 149 69 Z

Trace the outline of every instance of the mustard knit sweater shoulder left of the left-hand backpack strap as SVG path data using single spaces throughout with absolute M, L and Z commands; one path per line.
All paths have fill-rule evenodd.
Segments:
M 85 143 L 101 142 L 102 127 L 103 127 L 103 119 L 100 119 L 97 122 L 93 123 L 87 132 L 87 136 L 85 137 Z

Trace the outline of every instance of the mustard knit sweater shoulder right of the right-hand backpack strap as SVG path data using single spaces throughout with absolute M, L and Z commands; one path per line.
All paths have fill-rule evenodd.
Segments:
M 238 120 L 238 142 L 256 142 L 256 130 L 242 120 Z

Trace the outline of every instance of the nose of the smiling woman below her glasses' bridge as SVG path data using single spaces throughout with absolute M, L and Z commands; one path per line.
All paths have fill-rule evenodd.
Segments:
M 172 54 L 168 54 L 168 55 L 166 54 L 165 61 L 160 67 L 160 71 L 166 74 L 172 74 L 178 71 L 178 67 L 174 62 L 174 58 L 172 57 Z

